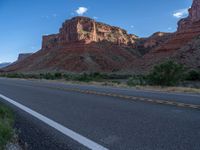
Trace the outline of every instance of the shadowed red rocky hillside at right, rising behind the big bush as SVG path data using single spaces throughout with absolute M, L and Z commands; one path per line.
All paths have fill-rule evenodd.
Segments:
M 196 43 L 200 35 L 200 0 L 194 0 L 192 7 L 189 9 L 189 16 L 187 18 L 181 19 L 178 22 L 178 29 L 175 33 L 170 35 L 170 38 L 166 39 L 162 44 L 153 48 L 149 53 L 143 56 L 143 60 L 134 61 L 134 64 L 138 64 L 140 68 L 133 66 L 135 70 L 140 69 L 141 71 L 148 71 L 154 66 L 154 64 L 160 63 L 165 59 L 173 58 L 175 61 L 181 62 L 188 68 L 200 68 L 200 62 L 195 61 L 192 53 L 195 50 L 195 59 L 200 59 L 200 51 L 197 44 L 192 46 L 189 50 L 188 45 L 191 43 Z M 187 48 L 186 48 L 187 47 Z M 181 59 L 179 56 L 186 55 L 183 49 L 191 51 L 187 52 L 188 60 Z M 175 57 L 177 56 L 177 57 Z M 194 62 L 193 62 L 194 61 Z

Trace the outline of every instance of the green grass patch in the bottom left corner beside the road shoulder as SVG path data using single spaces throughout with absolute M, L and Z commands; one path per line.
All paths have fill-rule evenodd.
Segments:
M 0 150 L 3 150 L 6 144 L 13 136 L 14 116 L 12 111 L 0 103 Z

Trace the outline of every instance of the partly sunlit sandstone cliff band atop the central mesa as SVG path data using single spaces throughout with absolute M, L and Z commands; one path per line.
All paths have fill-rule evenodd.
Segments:
M 71 42 L 112 42 L 122 46 L 133 46 L 137 36 L 125 30 L 96 22 L 87 17 L 75 17 L 63 23 L 58 34 L 43 37 L 42 48 L 53 48 Z

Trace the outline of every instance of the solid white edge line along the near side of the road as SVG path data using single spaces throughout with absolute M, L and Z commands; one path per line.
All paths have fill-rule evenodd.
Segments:
M 39 119 L 40 121 L 46 123 L 47 125 L 53 127 L 54 129 L 60 131 L 61 133 L 63 133 L 64 135 L 70 137 L 71 139 L 77 141 L 78 143 L 86 146 L 87 148 L 89 149 L 92 149 L 92 150 L 108 150 L 107 148 L 91 141 L 90 139 L 64 127 L 63 125 L 37 113 L 36 111 L 34 110 L 31 110 L 30 108 L 18 103 L 18 102 L 15 102 L 14 100 L 0 94 L 0 98 L 4 99 L 5 101 L 15 105 L 16 107 L 22 109 L 23 111 L 29 113 L 30 115 L 36 117 L 37 119 Z

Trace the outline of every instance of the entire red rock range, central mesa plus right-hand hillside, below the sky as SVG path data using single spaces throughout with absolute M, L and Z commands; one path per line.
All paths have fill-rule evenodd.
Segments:
M 175 33 L 157 32 L 139 38 L 125 30 L 75 17 L 63 23 L 58 34 L 43 36 L 42 48 L 5 71 L 146 72 L 165 59 L 189 68 L 200 67 L 200 0 Z M 189 60 L 190 59 L 190 60 Z

